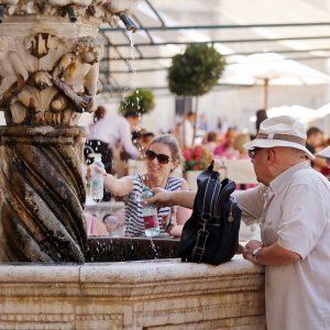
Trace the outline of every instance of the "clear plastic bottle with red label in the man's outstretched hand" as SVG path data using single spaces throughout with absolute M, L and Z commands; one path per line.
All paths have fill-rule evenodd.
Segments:
M 141 200 L 152 197 L 154 194 L 148 187 L 142 188 Z M 160 234 L 160 223 L 157 209 L 153 205 L 142 206 L 142 217 L 144 221 L 144 232 L 147 238 L 154 238 Z

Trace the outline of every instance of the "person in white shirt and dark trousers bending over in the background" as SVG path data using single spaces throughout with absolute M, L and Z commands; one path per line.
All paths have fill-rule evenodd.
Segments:
M 87 165 L 94 162 L 94 157 L 89 154 L 100 153 L 107 173 L 111 173 L 113 148 L 118 143 L 121 143 L 132 158 L 140 156 L 140 151 L 133 145 L 131 136 L 132 129 L 135 129 L 140 120 L 136 112 L 127 112 L 124 117 L 106 116 L 106 109 L 98 107 L 95 118 L 84 151 Z

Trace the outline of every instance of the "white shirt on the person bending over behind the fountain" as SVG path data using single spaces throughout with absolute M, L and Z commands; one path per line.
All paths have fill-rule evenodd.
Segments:
M 125 152 L 133 158 L 140 155 L 139 150 L 132 143 L 131 125 L 128 120 L 121 116 L 107 116 L 97 121 L 89 129 L 87 140 L 100 140 L 113 148 L 117 143 L 121 142 Z

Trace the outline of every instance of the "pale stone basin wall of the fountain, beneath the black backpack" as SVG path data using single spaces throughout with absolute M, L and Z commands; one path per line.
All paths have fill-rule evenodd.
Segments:
M 0 264 L 0 329 L 265 329 L 264 268 L 240 255 Z

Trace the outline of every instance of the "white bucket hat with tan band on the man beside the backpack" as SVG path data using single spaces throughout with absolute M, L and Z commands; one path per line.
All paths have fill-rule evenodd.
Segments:
M 264 120 L 255 140 L 245 143 L 246 150 L 254 147 L 288 146 L 305 152 L 307 157 L 315 156 L 306 148 L 306 129 L 297 119 L 289 116 L 279 116 Z

